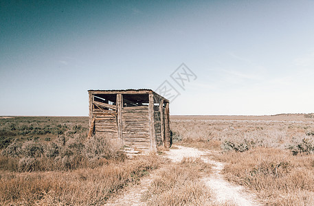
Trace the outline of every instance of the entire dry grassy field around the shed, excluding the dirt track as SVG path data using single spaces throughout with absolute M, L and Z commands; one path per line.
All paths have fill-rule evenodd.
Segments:
M 225 163 L 223 178 L 243 185 L 262 205 L 314 205 L 312 115 L 170 120 L 174 149 L 208 151 L 208 158 Z M 87 117 L 1 118 L 0 205 L 103 205 L 156 169 L 143 204 L 215 205 L 201 181 L 210 165 L 171 163 L 164 150 L 127 159 L 121 146 L 98 137 L 86 141 L 87 128 Z

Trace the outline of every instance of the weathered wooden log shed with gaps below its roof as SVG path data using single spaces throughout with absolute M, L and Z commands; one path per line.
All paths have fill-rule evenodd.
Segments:
M 89 90 L 90 134 L 156 151 L 171 146 L 169 100 L 151 89 Z

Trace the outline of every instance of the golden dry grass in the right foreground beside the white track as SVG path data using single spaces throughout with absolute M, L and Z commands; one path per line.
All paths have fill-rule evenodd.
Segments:
M 254 190 L 267 205 L 314 205 L 314 155 L 277 148 L 227 152 L 226 178 Z

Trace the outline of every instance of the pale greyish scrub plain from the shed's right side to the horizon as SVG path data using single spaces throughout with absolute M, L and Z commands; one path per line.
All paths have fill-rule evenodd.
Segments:
M 249 117 L 238 120 L 232 120 L 232 117 L 228 117 L 228 120 L 224 120 L 223 117 L 216 117 L 216 119 L 201 117 L 172 117 L 173 141 L 176 144 L 198 148 L 219 149 L 225 141 L 246 139 L 253 141 L 254 146 L 286 149 L 304 138 L 313 137 L 311 134 L 314 131 L 313 119 L 308 121 L 303 119 L 304 122 L 293 121 L 291 115 L 289 121 L 249 120 Z M 239 117 L 234 117 L 237 118 Z

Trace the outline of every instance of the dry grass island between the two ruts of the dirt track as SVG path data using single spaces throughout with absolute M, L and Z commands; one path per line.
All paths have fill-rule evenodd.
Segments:
M 200 178 L 209 171 L 201 159 L 169 164 L 154 177 L 143 199 L 148 205 L 204 205 L 211 194 Z

